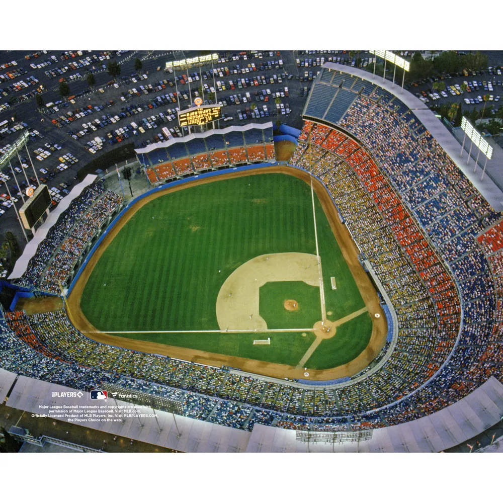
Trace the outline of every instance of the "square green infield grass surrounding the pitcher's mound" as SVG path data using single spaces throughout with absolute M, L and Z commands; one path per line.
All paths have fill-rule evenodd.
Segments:
M 321 319 L 319 287 L 303 281 L 270 281 L 260 287 L 260 315 L 268 328 L 312 328 Z M 283 307 L 287 299 L 296 300 L 299 309 Z

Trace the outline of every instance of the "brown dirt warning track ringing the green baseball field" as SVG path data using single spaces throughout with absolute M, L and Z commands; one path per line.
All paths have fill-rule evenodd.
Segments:
M 73 325 L 80 332 L 86 334 L 86 336 L 90 339 L 104 344 L 119 346 L 134 351 L 166 355 L 173 358 L 179 358 L 207 365 L 226 365 L 230 367 L 240 368 L 246 372 L 262 374 L 281 379 L 285 377 L 289 379 L 304 379 L 304 370 L 299 367 L 221 355 L 217 353 L 209 353 L 205 351 L 182 348 L 178 346 L 169 346 L 148 341 L 127 339 L 100 332 L 89 322 L 89 320 L 80 309 L 80 298 L 94 267 L 96 266 L 100 257 L 103 255 L 107 246 L 112 242 L 114 237 L 141 207 L 160 196 L 179 190 L 184 190 L 188 187 L 207 184 L 217 180 L 240 178 L 250 175 L 267 173 L 280 173 L 284 175 L 294 176 L 310 185 L 310 176 L 304 171 L 296 169 L 292 166 L 271 166 L 251 169 L 244 172 L 227 173 L 221 176 L 215 176 L 202 180 L 193 180 L 181 186 L 170 187 L 164 191 L 159 191 L 151 194 L 136 203 L 123 215 L 123 217 L 115 224 L 115 226 L 110 229 L 108 234 L 96 249 L 93 256 L 89 259 L 86 268 L 82 271 L 79 278 L 75 282 L 75 285 L 68 296 L 68 303 L 66 306 L 68 317 Z M 358 250 L 347 228 L 340 222 L 336 207 L 333 205 L 333 202 L 323 185 L 316 179 L 313 179 L 312 181 L 313 188 L 330 223 L 331 230 L 337 239 L 337 242 L 342 250 L 343 257 L 348 264 L 351 274 L 365 302 L 365 306 L 372 318 L 372 333 L 370 341 L 364 351 L 360 353 L 360 355 L 358 355 L 352 361 L 344 365 L 334 367 L 332 369 L 309 370 L 310 379 L 328 380 L 351 376 L 367 367 L 368 364 L 379 354 L 381 349 L 384 347 L 384 344 L 386 342 L 387 323 L 384 312 L 380 307 L 377 293 L 374 290 L 374 287 L 367 274 L 363 270 L 360 262 L 358 261 Z M 379 313 L 380 317 L 376 318 L 374 316 L 375 313 Z

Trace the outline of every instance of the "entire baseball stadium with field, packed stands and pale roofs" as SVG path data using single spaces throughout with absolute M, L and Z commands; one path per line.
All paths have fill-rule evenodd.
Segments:
M 202 129 L 135 149 L 141 194 L 88 175 L 37 229 L 5 282 L 11 384 L 134 393 L 247 452 L 441 451 L 499 421 L 499 196 L 423 102 L 327 62 L 302 129 Z

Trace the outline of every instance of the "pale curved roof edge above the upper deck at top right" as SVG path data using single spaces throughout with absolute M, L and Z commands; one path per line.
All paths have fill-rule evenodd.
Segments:
M 503 165 L 503 150 L 501 150 L 501 148 L 499 148 L 493 141 L 489 140 L 490 145 L 494 148 L 492 159 L 487 161 L 486 175 L 488 174 L 489 176 L 485 176 L 484 180 L 480 181 L 482 174 L 480 165 L 477 167 L 476 172 L 473 173 L 474 161 L 472 159 L 471 167 L 470 165 L 466 165 L 467 152 L 464 152 L 463 158 L 460 158 L 461 145 L 458 140 L 451 134 L 451 132 L 435 116 L 425 103 L 417 99 L 412 93 L 409 93 L 405 89 L 402 92 L 399 83 L 395 82 L 395 86 L 393 87 L 392 82 L 389 80 L 384 80 L 383 82 L 382 76 L 372 76 L 372 73 L 368 71 L 360 68 L 348 67 L 338 63 L 327 62 L 323 64 L 323 68 L 338 70 L 346 74 L 358 76 L 396 96 L 411 110 L 417 119 L 423 123 L 426 129 L 430 131 L 432 136 L 440 143 L 441 147 L 447 152 L 449 157 L 451 157 L 452 161 L 465 174 L 466 178 L 468 178 L 480 194 L 482 194 L 491 207 L 495 211 L 503 211 L 503 190 L 500 189 L 500 187 L 503 187 L 503 171 L 501 171 L 501 166 Z M 469 140 L 467 140 L 465 148 L 467 146 L 469 148 L 469 145 Z M 477 153 L 476 148 L 473 149 L 472 152 Z M 481 161 L 480 159 L 483 160 Z M 485 157 L 482 155 L 480 156 L 480 159 L 479 163 L 482 162 L 483 165 Z M 495 180 L 496 183 L 489 177 Z

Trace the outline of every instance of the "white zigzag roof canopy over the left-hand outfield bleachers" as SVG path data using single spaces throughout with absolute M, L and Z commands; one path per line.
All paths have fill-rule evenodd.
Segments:
M 25 246 L 23 255 L 16 261 L 14 269 L 8 279 L 21 278 L 21 276 L 23 276 L 30 259 L 37 253 L 38 245 L 46 238 L 49 229 L 57 222 L 59 215 L 67 210 L 70 203 L 77 198 L 88 185 L 91 185 L 95 179 L 96 175 L 88 175 L 82 182 L 71 189 L 70 193 L 61 200 L 54 211 L 50 212 L 47 220 L 35 231 L 33 239 Z

